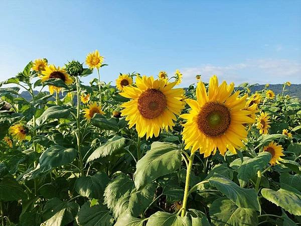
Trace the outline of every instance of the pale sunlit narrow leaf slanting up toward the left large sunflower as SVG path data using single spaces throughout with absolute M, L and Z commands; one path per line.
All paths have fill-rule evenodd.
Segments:
M 98 159 L 100 157 L 105 157 L 108 155 L 112 155 L 114 152 L 118 151 L 120 148 L 125 146 L 125 138 L 120 136 L 115 136 L 109 139 L 106 143 L 102 144 L 98 147 L 87 159 L 87 162 L 90 162 L 94 159 Z

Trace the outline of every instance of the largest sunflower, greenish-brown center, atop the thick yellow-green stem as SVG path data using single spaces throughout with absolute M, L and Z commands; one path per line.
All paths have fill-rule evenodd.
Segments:
M 183 140 L 185 149 L 191 147 L 192 152 L 200 150 L 204 157 L 216 153 L 221 155 L 227 150 L 236 154 L 236 149 L 243 147 L 246 140 L 246 124 L 254 122 L 248 115 L 251 111 L 243 109 L 247 94 L 239 97 L 239 91 L 231 95 L 234 83 L 227 85 L 226 81 L 219 86 L 214 75 L 209 81 L 208 94 L 203 82 L 198 82 L 197 100 L 186 99 L 192 108 L 189 114 L 181 117 L 187 122 L 183 125 Z

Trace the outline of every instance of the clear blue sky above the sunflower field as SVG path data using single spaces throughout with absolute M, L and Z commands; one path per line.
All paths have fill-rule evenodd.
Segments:
M 36 58 L 64 65 L 98 49 L 102 79 L 202 74 L 301 83 L 301 1 L 0 1 L 0 80 Z M 96 73 L 84 78 L 88 82 Z

